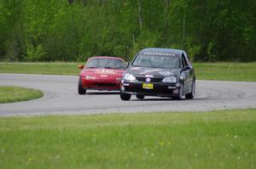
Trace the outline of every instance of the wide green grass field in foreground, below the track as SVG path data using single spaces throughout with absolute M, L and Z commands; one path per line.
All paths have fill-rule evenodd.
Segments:
M 0 118 L 0 168 L 255 168 L 256 110 Z

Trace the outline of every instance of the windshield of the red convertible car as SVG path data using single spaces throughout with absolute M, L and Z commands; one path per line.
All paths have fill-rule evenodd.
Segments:
M 120 59 L 90 59 L 86 68 L 124 69 L 124 62 Z

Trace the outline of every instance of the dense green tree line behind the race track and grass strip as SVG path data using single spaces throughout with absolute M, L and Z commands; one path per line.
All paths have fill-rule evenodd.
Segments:
M 255 0 L 0 0 L 0 60 L 129 60 L 155 47 L 252 61 L 255 28 Z

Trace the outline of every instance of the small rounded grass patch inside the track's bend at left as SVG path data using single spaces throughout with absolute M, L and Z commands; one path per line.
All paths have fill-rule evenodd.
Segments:
M 0 104 L 38 99 L 42 96 L 41 91 L 31 88 L 0 86 Z

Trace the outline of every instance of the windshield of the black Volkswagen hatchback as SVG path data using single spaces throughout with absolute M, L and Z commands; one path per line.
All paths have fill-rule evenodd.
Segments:
M 176 69 L 179 67 L 179 61 L 175 56 L 140 54 L 134 60 L 132 65 L 140 67 Z

